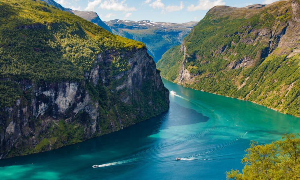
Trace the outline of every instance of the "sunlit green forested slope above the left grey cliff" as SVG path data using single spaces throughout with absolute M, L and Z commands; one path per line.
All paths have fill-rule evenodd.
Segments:
M 1 79 L 81 81 L 97 54 L 144 47 L 42 1 L 0 0 L 0 9 Z M 0 107 L 20 98 L 7 83 L 0 81 Z

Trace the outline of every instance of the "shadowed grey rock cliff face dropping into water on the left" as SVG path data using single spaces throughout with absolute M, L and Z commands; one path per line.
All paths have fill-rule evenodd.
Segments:
M 146 48 L 122 52 L 128 69 L 112 73 L 118 53 L 98 55 L 83 82 L 18 82 L 27 99 L 0 113 L 0 159 L 77 143 L 168 110 L 169 91 Z

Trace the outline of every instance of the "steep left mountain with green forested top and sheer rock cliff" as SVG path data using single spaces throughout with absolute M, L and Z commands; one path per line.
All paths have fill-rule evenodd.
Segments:
M 168 110 L 143 43 L 45 2 L 0 0 L 0 159 L 118 131 Z

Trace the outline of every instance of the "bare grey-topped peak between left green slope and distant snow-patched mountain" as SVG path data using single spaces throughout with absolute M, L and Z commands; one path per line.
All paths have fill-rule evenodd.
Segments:
M 82 17 L 85 20 L 88 20 L 89 22 L 94 23 L 95 25 L 100 26 L 101 28 L 112 32 L 110 27 L 108 27 L 98 16 L 96 12 L 93 11 L 79 11 L 79 10 L 71 10 L 76 16 Z

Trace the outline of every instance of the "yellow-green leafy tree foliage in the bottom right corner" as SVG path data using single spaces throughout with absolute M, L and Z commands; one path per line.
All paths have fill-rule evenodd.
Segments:
M 265 145 L 252 142 L 242 159 L 242 173 L 231 170 L 226 173 L 227 179 L 300 179 L 299 134 L 285 134 L 282 139 Z

